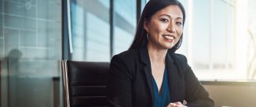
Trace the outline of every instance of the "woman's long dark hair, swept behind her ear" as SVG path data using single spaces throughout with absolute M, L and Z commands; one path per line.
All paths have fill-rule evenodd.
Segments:
M 141 48 L 144 45 L 148 43 L 147 39 L 147 31 L 144 30 L 144 21 L 150 20 L 152 15 L 155 14 L 155 12 L 158 12 L 160 9 L 165 8 L 168 5 L 178 5 L 181 9 L 182 15 L 183 15 L 183 25 L 185 23 L 185 9 L 183 5 L 181 5 L 181 2 L 178 2 L 177 0 L 150 0 L 147 5 L 145 5 L 143 12 L 141 14 L 141 18 L 139 20 L 139 23 L 137 25 L 136 34 L 133 40 L 132 45 L 130 46 L 130 49 L 133 48 Z M 170 48 L 168 52 L 175 52 L 178 48 L 181 46 L 183 33 L 181 34 L 181 38 L 179 41 L 177 41 L 177 44 L 174 45 L 173 48 Z

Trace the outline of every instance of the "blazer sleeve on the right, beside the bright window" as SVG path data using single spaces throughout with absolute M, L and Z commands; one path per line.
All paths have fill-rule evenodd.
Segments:
M 187 59 L 184 55 L 183 69 L 186 86 L 185 100 L 188 102 L 188 107 L 214 107 L 214 101 L 210 99 L 207 90 L 200 84 L 196 75 L 193 73 L 190 66 L 188 66 Z

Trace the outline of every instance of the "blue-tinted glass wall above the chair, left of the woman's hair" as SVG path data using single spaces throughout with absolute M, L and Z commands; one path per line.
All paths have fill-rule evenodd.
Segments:
M 71 59 L 109 62 L 112 55 L 126 51 L 135 34 L 136 15 L 136 0 L 72 0 Z

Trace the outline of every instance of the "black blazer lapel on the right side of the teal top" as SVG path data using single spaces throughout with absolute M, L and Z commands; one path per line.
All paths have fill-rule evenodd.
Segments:
M 177 68 L 174 66 L 174 59 L 171 58 L 170 53 L 166 54 L 166 66 L 168 71 L 168 84 L 170 91 L 170 102 L 177 102 Z

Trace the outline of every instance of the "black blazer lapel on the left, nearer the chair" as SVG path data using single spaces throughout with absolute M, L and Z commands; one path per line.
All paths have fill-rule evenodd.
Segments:
M 141 56 L 141 61 L 144 63 L 143 72 L 144 72 L 144 76 L 145 76 L 147 84 L 148 84 L 148 89 L 151 92 L 150 97 L 153 101 L 152 70 L 151 70 L 151 64 L 150 64 L 150 59 L 149 59 L 149 55 L 148 55 L 148 48 L 146 48 L 146 47 L 141 48 L 140 56 Z

